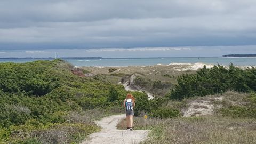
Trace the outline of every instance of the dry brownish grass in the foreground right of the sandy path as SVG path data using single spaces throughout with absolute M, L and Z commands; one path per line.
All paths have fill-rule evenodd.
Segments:
M 256 119 L 229 117 L 178 117 L 173 119 L 134 119 L 135 129 L 150 129 L 142 143 L 255 143 Z M 125 129 L 125 121 L 117 127 Z

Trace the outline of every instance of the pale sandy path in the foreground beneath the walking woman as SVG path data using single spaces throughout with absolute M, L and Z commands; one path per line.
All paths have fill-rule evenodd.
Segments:
M 104 117 L 96 123 L 102 127 L 102 130 L 90 135 L 89 140 L 85 143 L 139 143 L 145 140 L 148 135 L 148 130 L 117 130 L 117 123 L 125 118 L 125 114 L 112 115 Z

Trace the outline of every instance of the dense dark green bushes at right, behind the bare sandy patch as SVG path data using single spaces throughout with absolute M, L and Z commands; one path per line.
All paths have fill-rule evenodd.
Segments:
M 179 76 L 169 97 L 183 99 L 207 94 L 223 93 L 227 90 L 238 92 L 256 91 L 256 69 L 246 70 L 234 67 L 232 64 L 226 69 L 223 66 L 199 69 L 196 74 Z

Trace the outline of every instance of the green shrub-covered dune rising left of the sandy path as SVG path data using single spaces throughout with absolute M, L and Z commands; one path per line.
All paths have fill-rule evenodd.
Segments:
M 94 119 L 120 113 L 122 85 L 74 75 L 57 59 L 0 63 L 0 143 L 79 142 L 100 127 Z M 144 93 L 138 110 L 148 102 Z

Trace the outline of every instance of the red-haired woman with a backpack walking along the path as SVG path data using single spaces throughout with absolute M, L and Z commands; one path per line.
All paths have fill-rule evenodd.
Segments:
M 132 131 L 133 116 L 134 116 L 133 107 L 135 107 L 135 98 L 131 93 L 128 93 L 126 95 L 126 99 L 124 99 L 123 107 L 125 107 L 125 112 L 126 112 L 127 130 Z

